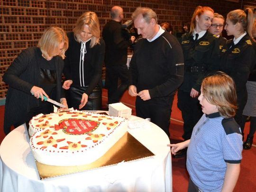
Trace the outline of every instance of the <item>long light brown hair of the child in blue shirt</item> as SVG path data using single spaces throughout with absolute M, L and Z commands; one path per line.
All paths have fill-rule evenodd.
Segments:
M 238 109 L 236 85 L 229 75 L 217 72 L 206 77 L 202 81 L 201 91 L 209 103 L 217 106 L 222 117 L 229 118 L 236 115 Z

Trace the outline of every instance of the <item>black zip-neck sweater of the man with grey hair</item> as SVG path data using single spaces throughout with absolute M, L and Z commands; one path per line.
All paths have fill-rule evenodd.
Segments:
M 165 31 L 153 42 L 138 40 L 129 74 L 129 84 L 135 85 L 137 92 L 148 90 L 150 102 L 170 105 L 172 95 L 183 82 L 184 74 L 181 45 L 174 35 Z

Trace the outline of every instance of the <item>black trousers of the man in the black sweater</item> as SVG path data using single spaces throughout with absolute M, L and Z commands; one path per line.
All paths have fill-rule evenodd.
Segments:
M 169 126 L 172 113 L 174 96 L 170 100 L 170 105 L 159 105 L 152 103 L 151 100 L 136 99 L 136 116 L 141 118 L 151 118 L 151 122 L 159 126 L 170 138 Z

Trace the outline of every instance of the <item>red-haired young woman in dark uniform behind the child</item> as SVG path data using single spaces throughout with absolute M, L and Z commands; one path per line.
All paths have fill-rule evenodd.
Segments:
M 207 30 L 213 20 L 210 7 L 198 6 L 191 19 L 190 32 L 182 36 L 185 73 L 178 89 L 178 108 L 183 117 L 183 139 L 189 140 L 193 127 L 202 116 L 198 101 L 202 79 L 219 70 L 219 40 Z M 185 156 L 186 149 L 180 150 L 175 158 Z

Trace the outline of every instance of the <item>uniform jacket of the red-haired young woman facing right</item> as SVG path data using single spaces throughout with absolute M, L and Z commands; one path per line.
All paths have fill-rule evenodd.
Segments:
M 179 88 L 183 92 L 191 92 L 195 89 L 200 92 L 203 78 L 219 70 L 219 40 L 218 37 L 206 32 L 197 41 L 186 33 L 181 41 L 185 74 L 184 81 Z

